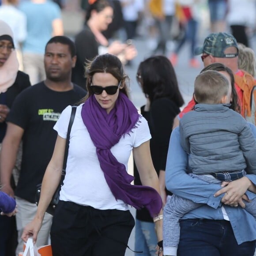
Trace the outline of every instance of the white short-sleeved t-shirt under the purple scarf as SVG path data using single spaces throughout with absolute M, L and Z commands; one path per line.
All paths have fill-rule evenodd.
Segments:
M 105 180 L 96 154 L 96 147 L 81 117 L 82 105 L 76 109 L 75 120 L 70 133 L 68 161 L 64 184 L 60 191 L 60 200 L 80 205 L 89 205 L 96 209 L 128 210 L 122 200 L 116 200 Z M 68 106 L 54 125 L 58 135 L 67 137 L 71 106 Z M 120 141 L 111 148 L 118 162 L 128 168 L 128 159 L 133 147 L 151 139 L 147 120 L 141 117 L 132 132 L 121 136 Z

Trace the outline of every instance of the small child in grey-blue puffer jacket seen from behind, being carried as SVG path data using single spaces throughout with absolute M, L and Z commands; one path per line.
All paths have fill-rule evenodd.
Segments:
M 231 84 L 217 71 L 205 71 L 196 77 L 195 111 L 180 120 L 181 146 L 189 154 L 192 177 L 208 183 L 234 181 L 247 173 L 256 174 L 256 139 L 247 121 L 229 109 Z M 163 250 L 176 256 L 180 236 L 179 220 L 202 204 L 173 195 L 164 208 Z M 256 200 L 245 202 L 256 218 Z M 234 207 L 238 207 L 234 205 Z M 223 215 L 228 216 L 224 207 Z

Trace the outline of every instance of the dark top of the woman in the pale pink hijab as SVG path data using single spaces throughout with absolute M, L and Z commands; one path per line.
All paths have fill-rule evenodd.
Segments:
M 21 71 L 17 72 L 17 77 L 15 82 L 11 87 L 7 89 L 6 92 L 0 94 L 0 104 L 7 105 L 11 109 L 12 103 L 14 102 L 16 96 L 27 87 L 30 87 L 29 76 Z M 6 133 L 7 124 L 6 122 L 0 123 L 0 143 L 4 139 Z

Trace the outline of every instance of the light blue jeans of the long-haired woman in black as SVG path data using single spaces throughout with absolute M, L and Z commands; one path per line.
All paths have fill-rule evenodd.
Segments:
M 155 256 L 157 237 L 153 222 L 135 221 L 135 256 Z M 142 252 L 142 253 L 139 253 Z

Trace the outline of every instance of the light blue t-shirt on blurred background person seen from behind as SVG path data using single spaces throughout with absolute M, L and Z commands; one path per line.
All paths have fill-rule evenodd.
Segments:
M 27 19 L 27 37 L 23 43 L 25 53 L 45 53 L 45 45 L 53 36 L 53 20 L 61 19 L 60 7 L 52 1 L 19 5 Z

